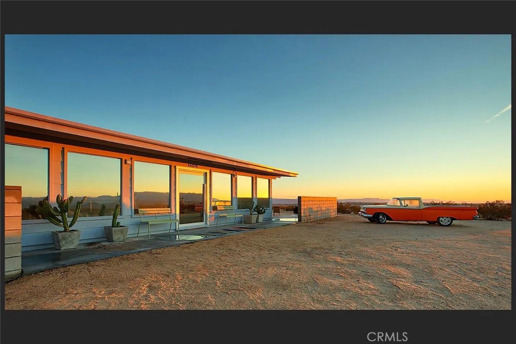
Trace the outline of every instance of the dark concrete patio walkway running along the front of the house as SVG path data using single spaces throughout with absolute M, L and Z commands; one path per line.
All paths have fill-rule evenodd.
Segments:
M 73 250 L 56 250 L 55 248 L 22 252 L 22 275 L 28 275 L 43 270 L 59 268 L 88 261 L 106 259 L 125 254 L 138 253 L 153 249 L 160 249 L 174 245 L 191 243 L 199 240 L 215 239 L 226 235 L 256 231 L 264 228 L 289 225 L 295 223 L 297 215 L 282 214 L 261 223 L 237 223 L 220 226 L 191 228 L 178 232 L 151 234 L 140 237 L 127 238 L 124 242 L 96 241 L 79 244 Z

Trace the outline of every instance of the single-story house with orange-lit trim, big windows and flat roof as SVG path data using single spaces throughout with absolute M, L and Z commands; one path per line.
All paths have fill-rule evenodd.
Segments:
M 137 234 L 138 209 L 171 209 L 179 229 L 212 226 L 217 205 L 249 214 L 250 202 L 272 217 L 272 180 L 296 177 L 259 163 L 5 107 L 5 185 L 22 187 L 22 251 L 53 247 L 57 227 L 35 211 L 58 194 L 87 196 L 73 229 L 80 243 L 105 239 L 115 205 L 118 221 Z M 219 223 L 220 224 L 220 223 Z M 151 226 L 151 234 L 169 231 Z M 147 235 L 147 228 L 144 233 Z M 141 236 L 141 231 L 140 231 Z

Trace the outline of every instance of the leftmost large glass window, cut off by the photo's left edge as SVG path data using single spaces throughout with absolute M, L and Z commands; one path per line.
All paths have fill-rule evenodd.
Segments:
M 22 220 L 42 219 L 36 205 L 49 194 L 49 150 L 6 144 L 5 185 L 22 187 Z

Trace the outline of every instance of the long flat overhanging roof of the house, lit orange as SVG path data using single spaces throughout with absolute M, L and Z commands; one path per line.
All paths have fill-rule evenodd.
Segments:
M 287 171 L 259 163 L 209 153 L 168 142 L 125 134 L 115 130 L 72 122 L 13 107 L 5 107 L 5 134 L 46 141 L 75 141 L 75 145 L 95 145 L 98 149 L 118 149 L 169 160 L 275 177 L 297 177 Z M 80 144 L 82 143 L 82 144 Z M 105 147 L 105 148 L 103 148 Z

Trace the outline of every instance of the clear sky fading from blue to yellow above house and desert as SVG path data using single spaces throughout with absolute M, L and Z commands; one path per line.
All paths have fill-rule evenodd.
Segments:
M 6 35 L 5 105 L 299 173 L 273 198 L 511 199 L 510 35 Z

